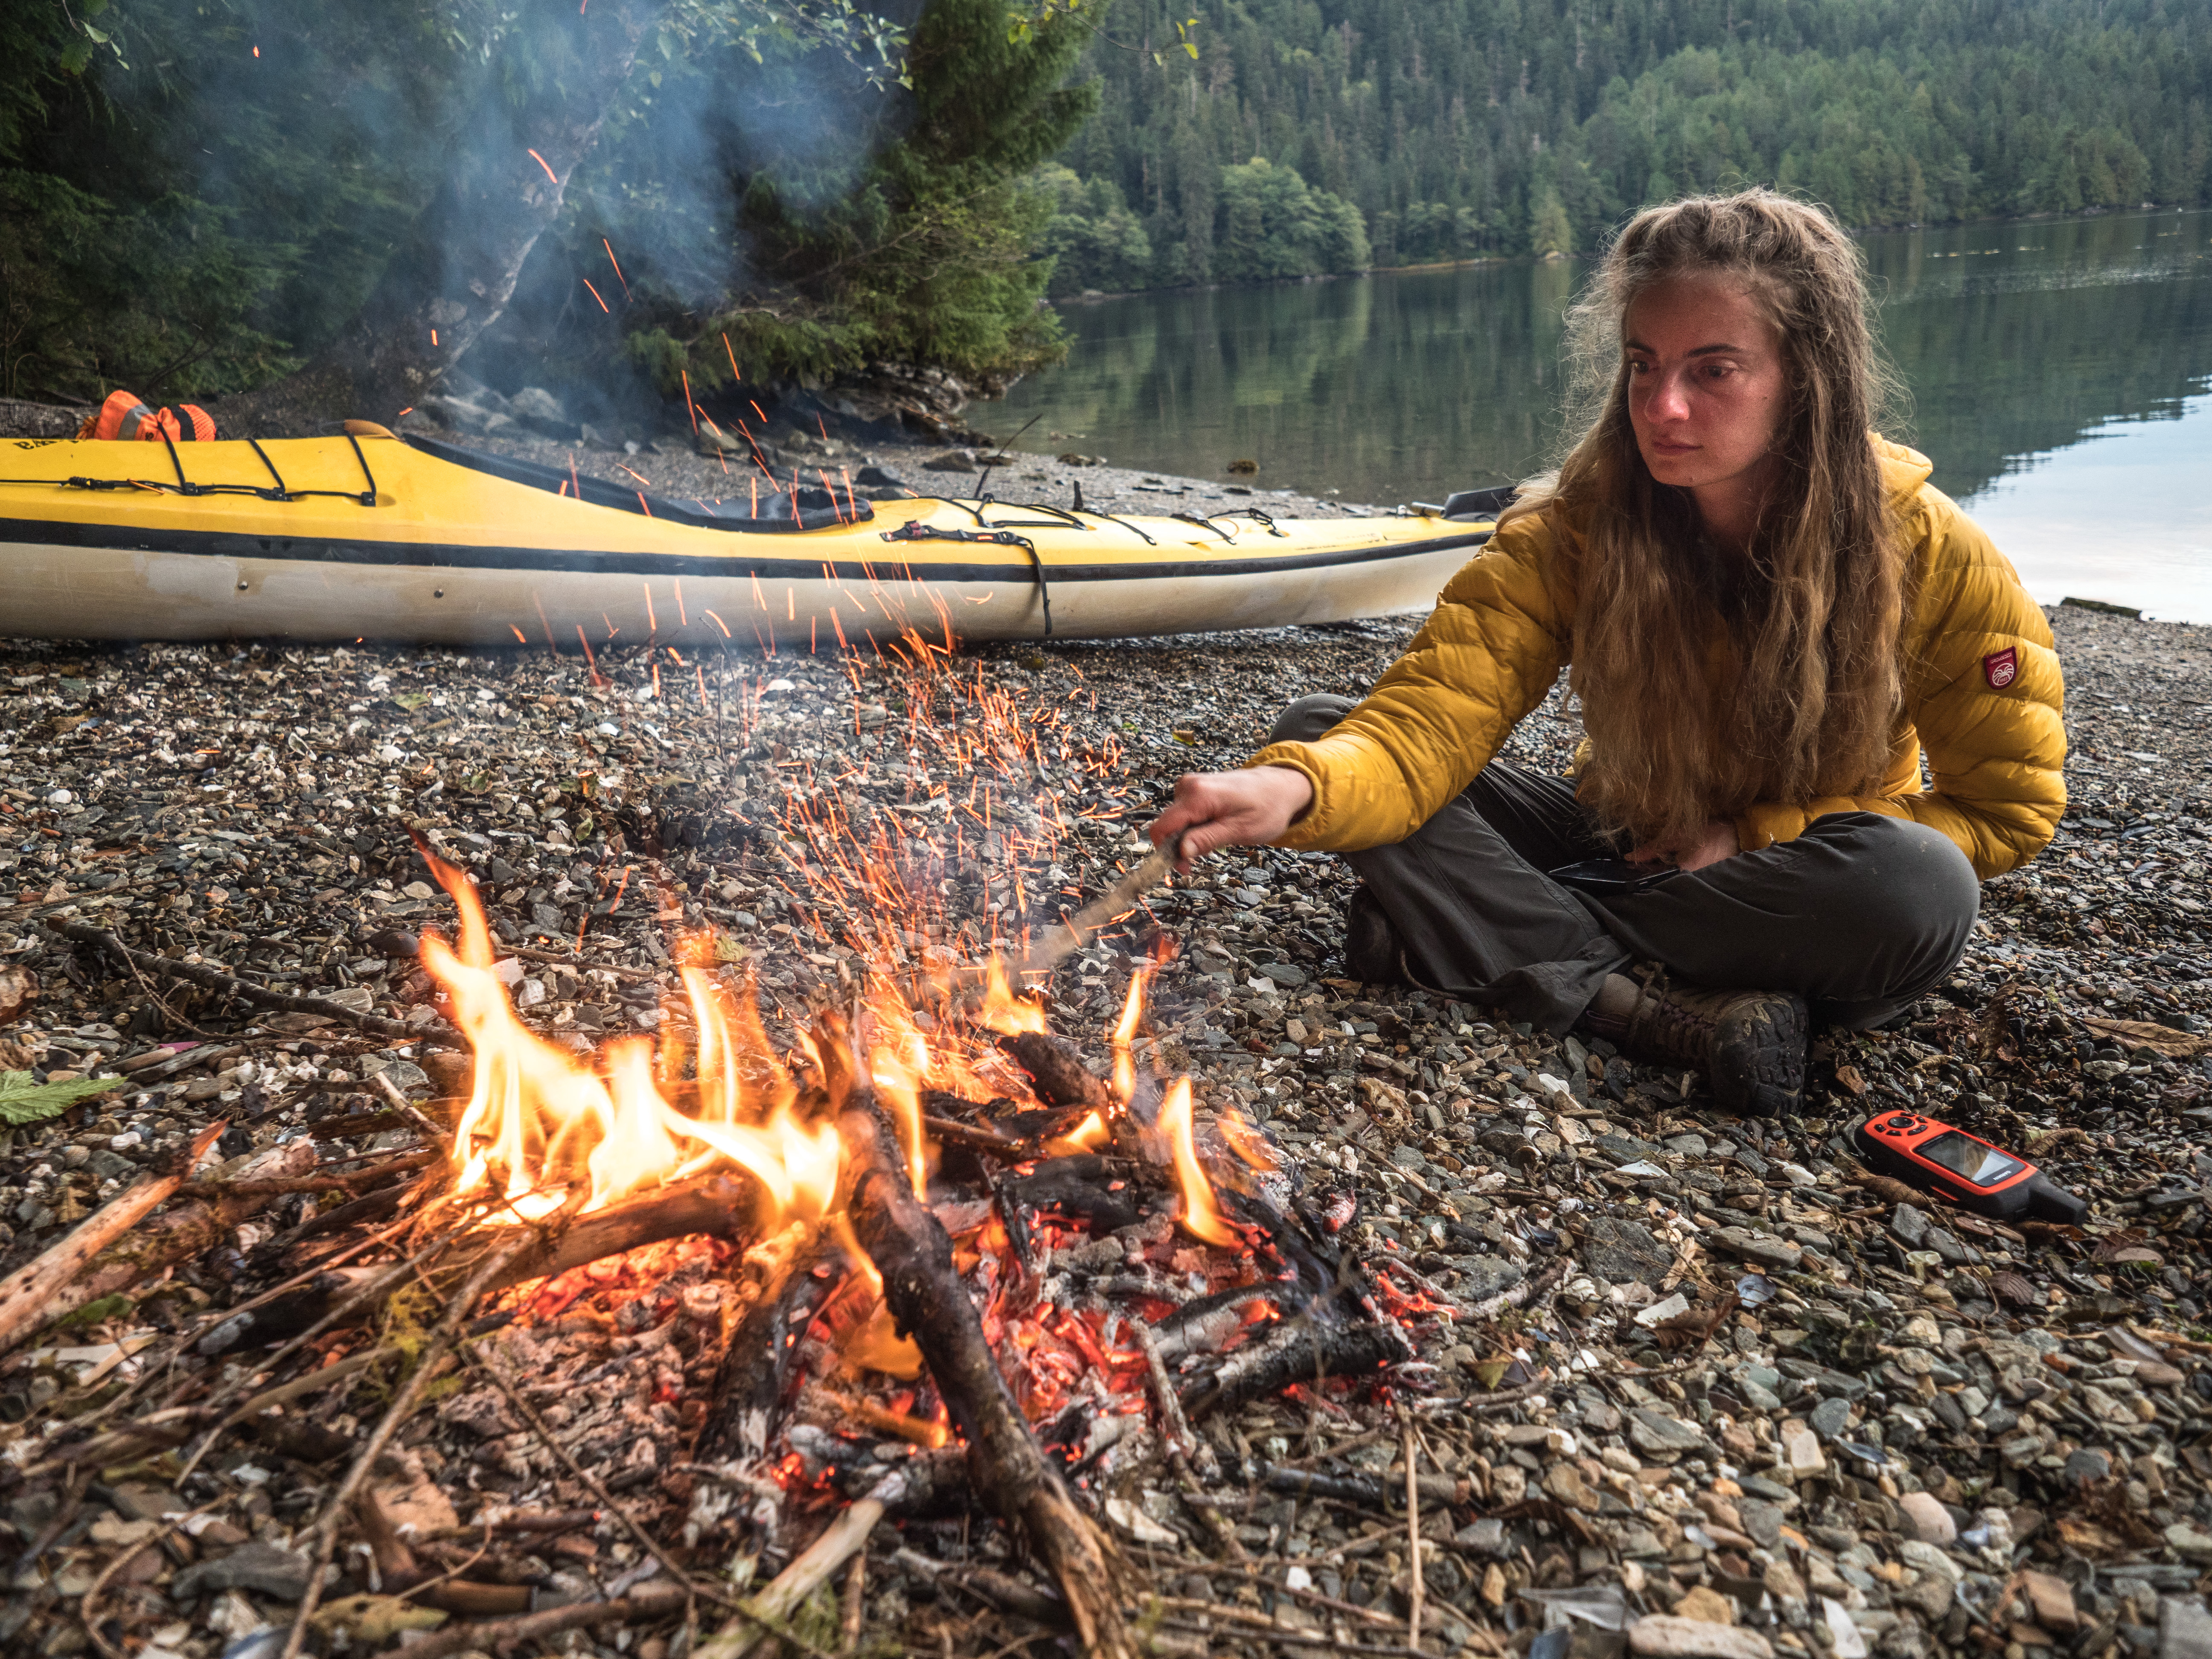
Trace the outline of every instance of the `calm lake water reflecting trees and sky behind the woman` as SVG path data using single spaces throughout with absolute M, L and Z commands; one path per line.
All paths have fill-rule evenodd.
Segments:
M 2212 215 L 1865 246 L 1913 396 L 1900 436 L 2028 591 L 2212 622 Z M 1117 467 L 1250 458 L 1261 489 L 1442 500 L 1553 456 L 1562 316 L 1586 274 L 1553 261 L 1064 305 L 1068 361 L 982 418 L 1042 416 L 1024 449 Z

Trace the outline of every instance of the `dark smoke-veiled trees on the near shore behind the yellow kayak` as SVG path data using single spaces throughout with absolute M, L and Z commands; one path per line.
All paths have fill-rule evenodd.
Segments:
M 1004 0 L 7 0 L 0 396 L 1020 374 L 1079 49 Z

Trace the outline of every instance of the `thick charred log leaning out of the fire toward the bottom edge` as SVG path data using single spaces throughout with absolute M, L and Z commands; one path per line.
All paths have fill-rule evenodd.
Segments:
M 843 1033 L 832 1029 L 827 1037 L 821 1048 L 832 1099 L 841 1102 L 841 1190 L 852 1228 L 883 1274 L 883 1296 L 900 1336 L 922 1349 L 967 1440 L 975 1491 L 1053 1571 L 1086 1650 L 1135 1659 L 1137 1644 L 1121 1617 L 1135 1575 L 1037 1447 L 991 1356 L 975 1303 L 953 1272 L 951 1239 L 914 1194 L 898 1139 L 865 1082 L 867 1068 L 854 1075 Z

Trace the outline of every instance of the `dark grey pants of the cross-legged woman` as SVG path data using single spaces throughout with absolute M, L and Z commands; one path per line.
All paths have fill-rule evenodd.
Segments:
M 1310 743 L 1352 706 L 1301 697 L 1272 741 Z M 1796 841 L 1637 894 L 1588 894 L 1544 874 L 1615 856 L 1568 779 L 1502 761 L 1396 847 L 1343 854 L 1422 984 L 1551 1033 L 1630 962 L 1714 989 L 1796 991 L 1816 1020 L 1863 1031 L 1951 971 L 1982 905 L 1949 836 L 1878 812 L 1814 818 Z

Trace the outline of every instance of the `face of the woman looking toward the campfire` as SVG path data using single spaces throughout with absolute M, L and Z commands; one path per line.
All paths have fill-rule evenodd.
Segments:
M 1787 409 L 1781 336 L 1739 285 L 1683 276 L 1628 307 L 1628 422 L 1661 484 L 1708 520 L 1756 513 Z

